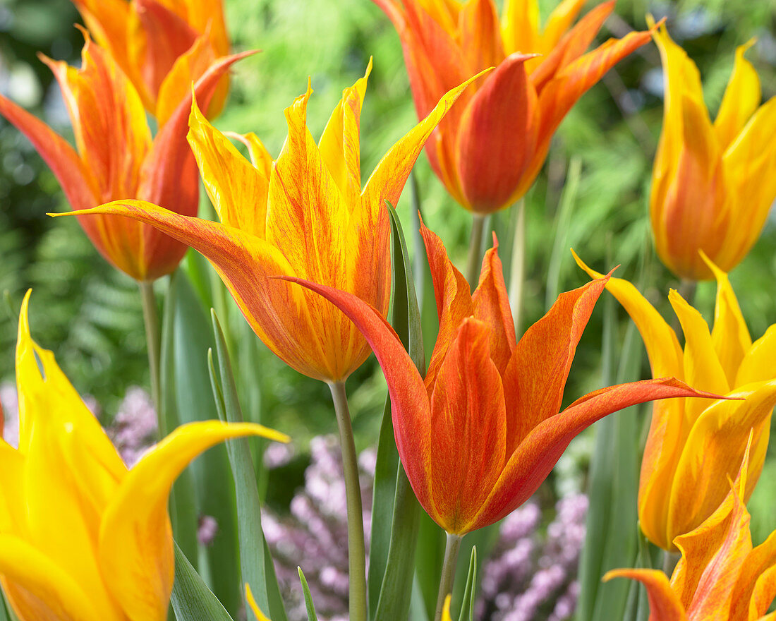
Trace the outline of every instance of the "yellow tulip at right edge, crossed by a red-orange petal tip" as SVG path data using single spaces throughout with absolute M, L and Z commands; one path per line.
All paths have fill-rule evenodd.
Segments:
M 590 276 L 600 276 L 577 258 Z M 701 390 L 743 401 L 661 401 L 653 406 L 641 466 L 639 520 L 644 534 L 664 550 L 714 512 L 729 491 L 754 429 L 743 492 L 748 501 L 765 460 L 776 404 L 776 325 L 752 342 L 725 272 L 717 279 L 714 328 L 674 290 L 668 296 L 684 331 L 684 352 L 674 330 L 636 287 L 612 278 L 606 285 L 639 328 L 653 376 L 678 377 Z

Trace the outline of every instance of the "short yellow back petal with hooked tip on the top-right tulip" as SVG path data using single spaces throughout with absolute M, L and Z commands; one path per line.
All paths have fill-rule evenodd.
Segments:
M 752 64 L 743 57 L 755 41 L 750 39 L 747 43 L 736 47 L 733 74 L 730 76 L 725 95 L 722 97 L 722 105 L 719 106 L 719 113 L 714 121 L 714 130 L 723 151 L 733 143 L 760 105 L 760 78 L 757 77 L 757 71 L 754 71 Z

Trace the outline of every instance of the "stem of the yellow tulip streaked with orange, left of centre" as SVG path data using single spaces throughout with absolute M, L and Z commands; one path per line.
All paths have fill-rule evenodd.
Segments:
M 329 383 L 340 434 L 345 498 L 348 503 L 348 610 L 350 621 L 366 621 L 366 550 L 364 515 L 361 505 L 359 462 L 355 454 L 353 428 L 348 409 L 345 382 Z

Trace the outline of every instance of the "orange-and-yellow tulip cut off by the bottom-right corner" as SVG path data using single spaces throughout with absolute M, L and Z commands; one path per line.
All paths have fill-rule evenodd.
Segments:
M 618 569 L 610 578 L 633 578 L 646 586 L 650 621 L 773 621 L 776 597 L 776 531 L 752 547 L 744 503 L 746 460 L 733 490 L 691 533 L 677 537 L 681 560 L 670 582 L 662 571 Z

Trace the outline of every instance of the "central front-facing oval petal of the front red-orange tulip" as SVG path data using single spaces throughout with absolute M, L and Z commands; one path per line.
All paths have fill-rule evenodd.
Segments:
M 504 389 L 490 338 L 487 324 L 463 320 L 431 395 L 431 517 L 448 533 L 467 532 L 504 467 Z

